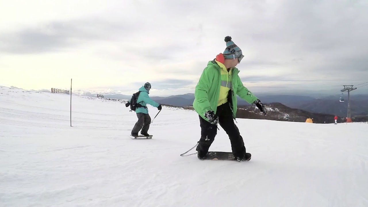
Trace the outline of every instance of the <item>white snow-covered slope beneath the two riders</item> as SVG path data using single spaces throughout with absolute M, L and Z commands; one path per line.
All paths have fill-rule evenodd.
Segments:
M 69 95 L 1 87 L 0 117 L 0 206 L 368 206 L 368 124 L 237 119 L 252 159 L 231 162 L 180 156 L 191 110 L 163 107 L 132 140 L 123 103 L 73 95 L 71 127 Z M 210 150 L 231 150 L 222 128 Z

